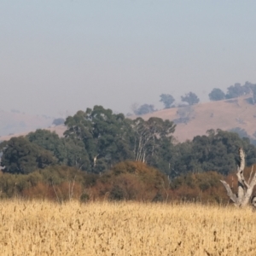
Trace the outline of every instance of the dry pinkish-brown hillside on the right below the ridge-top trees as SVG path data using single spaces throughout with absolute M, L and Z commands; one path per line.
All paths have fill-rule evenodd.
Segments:
M 256 131 L 256 105 L 250 104 L 250 96 L 168 108 L 142 117 L 148 119 L 152 116 L 174 121 L 177 124 L 174 137 L 179 142 L 193 139 L 196 135 L 204 135 L 210 129 L 230 131 L 238 127 L 251 137 Z

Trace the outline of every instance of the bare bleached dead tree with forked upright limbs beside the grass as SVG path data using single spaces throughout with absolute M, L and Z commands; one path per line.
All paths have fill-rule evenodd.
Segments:
M 245 207 L 249 203 L 252 194 L 253 188 L 256 185 L 256 172 L 253 173 L 253 166 L 250 172 L 250 177 L 246 181 L 243 172 L 245 168 L 245 154 L 242 148 L 239 148 L 239 158 L 240 163 L 237 166 L 236 176 L 238 178 L 238 191 L 237 195 L 233 193 L 230 189 L 230 185 L 224 180 L 220 182 L 224 184 L 225 189 L 227 190 L 227 195 L 230 197 L 230 200 L 234 202 L 236 207 Z

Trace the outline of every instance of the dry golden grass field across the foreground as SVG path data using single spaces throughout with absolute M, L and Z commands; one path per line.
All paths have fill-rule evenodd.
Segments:
M 251 208 L 0 201 L 1 255 L 256 255 Z

